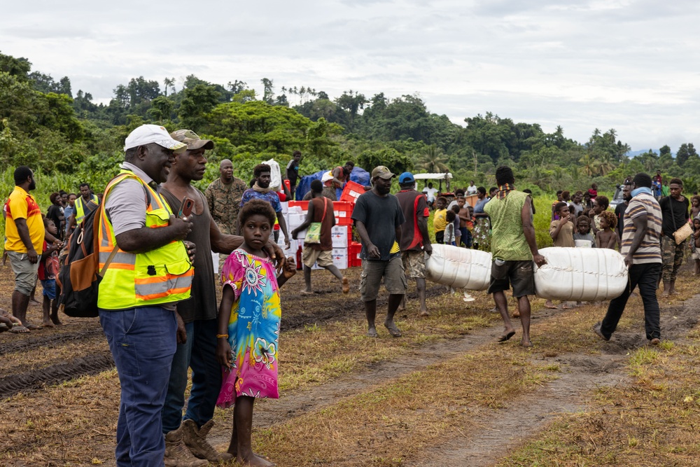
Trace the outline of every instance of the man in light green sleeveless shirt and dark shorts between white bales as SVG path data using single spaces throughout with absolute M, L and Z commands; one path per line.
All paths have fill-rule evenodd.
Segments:
M 530 342 L 530 300 L 535 295 L 533 261 L 538 266 L 547 263 L 540 255 L 535 241 L 535 228 L 532 223 L 530 197 L 527 193 L 514 189 L 515 178 L 510 167 L 496 169 L 498 193 L 484 206 L 484 212 L 491 217 L 491 285 L 493 301 L 503 317 L 505 330 L 499 342 L 509 340 L 515 330 L 508 316 L 508 304 L 504 291 L 511 284 L 513 296 L 518 300 L 520 322 L 523 327 L 521 344 L 531 347 Z

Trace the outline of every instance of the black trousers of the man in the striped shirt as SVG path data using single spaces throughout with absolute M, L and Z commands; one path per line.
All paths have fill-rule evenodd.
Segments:
M 659 286 L 659 275 L 661 274 L 661 263 L 647 263 L 631 265 L 629 267 L 629 284 L 619 297 L 610 300 L 608 313 L 605 314 L 601 325 L 601 333 L 610 339 L 612 333 L 617 329 L 617 323 L 622 317 L 624 307 L 627 305 L 629 295 L 635 287 L 639 287 L 639 295 L 642 297 L 644 305 L 644 329 L 648 340 L 661 338 L 661 326 L 659 302 L 656 298 L 656 289 Z

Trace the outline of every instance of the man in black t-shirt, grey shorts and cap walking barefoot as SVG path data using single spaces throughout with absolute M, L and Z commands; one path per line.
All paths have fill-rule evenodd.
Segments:
M 374 327 L 374 316 L 377 314 L 377 295 L 382 277 L 384 287 L 389 293 L 384 326 L 393 337 L 401 337 L 393 315 L 407 288 L 399 248 L 401 225 L 405 218 L 398 200 L 389 193 L 394 176 L 384 165 L 374 167 L 371 176 L 372 190 L 358 197 L 352 211 L 355 228 L 362 240 L 360 295 L 365 303 L 367 335 L 370 337 L 378 337 Z

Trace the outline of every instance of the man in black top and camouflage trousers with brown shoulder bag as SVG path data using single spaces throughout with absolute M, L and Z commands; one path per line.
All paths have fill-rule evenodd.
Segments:
M 664 236 L 661 237 L 661 258 L 663 266 L 661 267 L 661 279 L 664 280 L 663 296 L 675 294 L 675 277 L 678 275 L 678 269 L 683 263 L 683 252 L 687 239 L 675 243 L 673 232 L 680 229 L 688 222 L 688 207 L 689 202 L 687 197 L 683 196 L 683 181 L 681 179 L 671 179 L 668 183 L 670 195 L 661 198 L 659 206 L 661 214 L 664 216 L 664 221 L 661 225 L 661 232 Z

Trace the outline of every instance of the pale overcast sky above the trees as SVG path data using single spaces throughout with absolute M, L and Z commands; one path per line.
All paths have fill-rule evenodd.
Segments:
M 691 0 L 15 1 L 0 51 L 109 102 L 130 78 L 260 78 L 331 98 L 418 94 L 464 125 L 487 111 L 615 128 L 633 150 L 700 144 L 700 3 Z M 295 96 L 290 96 L 294 103 Z

